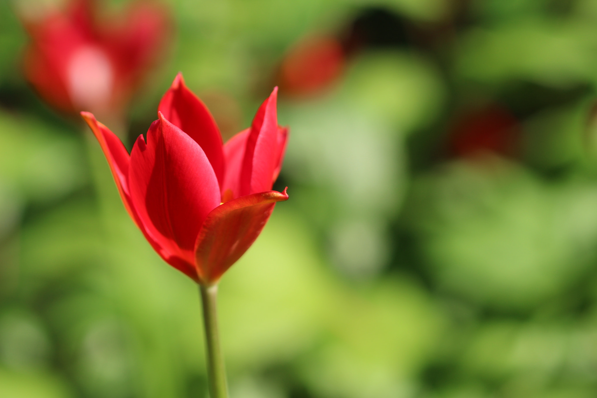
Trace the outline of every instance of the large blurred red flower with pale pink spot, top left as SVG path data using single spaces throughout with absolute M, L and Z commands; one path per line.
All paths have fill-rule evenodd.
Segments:
M 21 18 L 31 37 L 26 78 L 45 101 L 67 113 L 122 112 L 170 30 L 164 7 L 149 2 L 109 19 L 100 20 L 93 0 L 23 12 Z

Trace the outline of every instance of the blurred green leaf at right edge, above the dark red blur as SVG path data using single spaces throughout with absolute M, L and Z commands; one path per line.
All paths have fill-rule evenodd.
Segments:
M 458 75 L 500 84 L 524 78 L 562 87 L 595 81 L 597 43 L 592 24 L 559 23 L 532 17 L 492 29 L 470 29 L 460 44 Z

